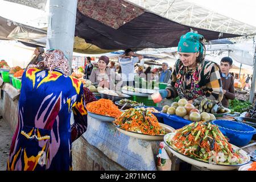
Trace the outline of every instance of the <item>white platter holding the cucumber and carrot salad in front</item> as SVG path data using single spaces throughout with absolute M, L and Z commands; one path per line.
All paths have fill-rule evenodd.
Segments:
M 165 135 L 164 136 L 164 143 L 166 143 L 166 145 L 168 146 L 168 149 L 172 152 L 172 154 L 177 156 L 177 158 L 183 160 L 184 162 L 192 164 L 193 166 L 207 168 L 207 169 L 210 169 L 210 170 L 230 171 L 230 170 L 238 169 L 240 166 L 243 166 L 243 165 L 245 165 L 245 164 L 250 162 L 250 156 L 245 151 L 243 151 L 243 150 L 240 150 L 240 154 L 245 156 L 246 161 L 244 163 L 242 163 L 242 164 L 236 164 L 236 165 L 209 164 L 209 163 L 204 162 L 204 161 L 199 160 L 199 159 L 189 158 L 188 156 L 186 156 L 184 154 L 181 154 L 180 152 L 177 152 L 174 148 L 172 148 L 167 143 L 166 139 L 168 137 L 172 138 L 172 137 L 174 137 L 174 135 L 175 135 L 175 133 L 169 133 L 169 134 Z M 239 147 L 234 146 L 232 144 L 232 148 L 237 149 Z

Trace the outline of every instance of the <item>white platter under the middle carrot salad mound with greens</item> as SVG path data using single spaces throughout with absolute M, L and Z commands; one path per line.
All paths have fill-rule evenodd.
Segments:
M 134 132 L 134 131 L 123 130 L 120 127 L 118 127 L 117 125 L 115 125 L 114 123 L 113 123 L 113 125 L 117 128 L 118 131 L 120 131 L 121 133 L 123 133 L 123 134 L 125 134 L 129 137 L 134 137 L 134 138 L 138 138 L 138 139 L 142 139 L 142 140 L 151 140 L 151 141 L 161 141 L 164 138 L 164 135 L 146 135 L 146 134 L 137 133 L 137 132 Z M 168 133 L 175 131 L 175 129 L 172 128 L 171 126 L 164 125 L 163 123 L 159 123 L 159 125 L 161 127 L 164 127 L 164 129 Z

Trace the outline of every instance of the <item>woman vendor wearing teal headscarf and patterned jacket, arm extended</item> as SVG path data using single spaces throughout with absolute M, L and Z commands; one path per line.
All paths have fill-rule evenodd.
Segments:
M 221 102 L 223 97 L 220 68 L 205 60 L 204 37 L 194 32 L 181 36 L 178 45 L 179 59 L 165 90 L 159 90 L 162 98 L 194 100 L 208 98 Z

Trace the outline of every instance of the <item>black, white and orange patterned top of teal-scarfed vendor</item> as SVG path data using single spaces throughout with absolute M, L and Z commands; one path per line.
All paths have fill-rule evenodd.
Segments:
M 170 98 L 179 96 L 195 100 L 203 97 L 221 102 L 223 90 L 220 68 L 216 63 L 204 60 L 197 65 L 196 71 L 188 71 L 182 62 L 177 60 L 166 89 L 171 91 Z

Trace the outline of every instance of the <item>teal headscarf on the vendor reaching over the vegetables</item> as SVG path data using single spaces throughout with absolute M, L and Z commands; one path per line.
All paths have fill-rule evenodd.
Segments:
M 201 40 L 204 39 L 203 35 L 196 34 L 195 32 L 188 32 L 185 35 L 182 35 L 178 45 L 178 52 L 204 52 L 203 43 Z

